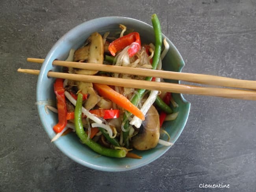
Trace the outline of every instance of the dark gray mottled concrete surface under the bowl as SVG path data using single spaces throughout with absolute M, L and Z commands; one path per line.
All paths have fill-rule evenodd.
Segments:
M 184 72 L 256 80 L 255 0 L 1 0 L 0 191 L 255 191 L 255 101 L 185 95 L 191 113 L 178 141 L 128 172 L 83 167 L 43 130 L 34 104 L 37 77 L 17 73 L 38 68 L 26 57 L 45 57 L 84 21 L 115 15 L 150 24 L 152 13 L 184 57 Z

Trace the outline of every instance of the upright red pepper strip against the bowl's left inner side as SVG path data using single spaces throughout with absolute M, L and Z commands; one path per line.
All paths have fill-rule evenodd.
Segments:
M 59 122 L 53 127 L 56 133 L 60 133 L 67 125 L 67 106 L 63 88 L 63 79 L 56 79 L 54 83 L 54 92 L 57 98 L 58 119 Z

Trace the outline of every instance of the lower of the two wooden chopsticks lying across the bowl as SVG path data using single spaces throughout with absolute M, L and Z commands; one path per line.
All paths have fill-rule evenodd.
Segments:
M 18 72 L 38 75 L 39 70 L 32 69 L 18 69 Z M 130 87 L 137 89 L 150 89 L 160 90 L 182 94 L 195 94 L 205 96 L 217 96 L 223 98 L 234 98 L 241 100 L 256 100 L 256 91 L 253 90 L 240 90 L 240 89 L 228 89 L 228 88 L 215 88 L 215 87 L 199 87 L 192 85 L 182 85 L 177 83 L 165 83 L 165 82 L 154 82 L 137 79 L 123 79 L 105 77 L 105 76 L 91 76 L 91 75 L 79 75 L 69 74 L 61 72 L 49 71 L 48 77 L 71 79 L 74 81 L 85 81 L 91 83 L 101 83 L 106 85 L 115 85 L 121 87 Z

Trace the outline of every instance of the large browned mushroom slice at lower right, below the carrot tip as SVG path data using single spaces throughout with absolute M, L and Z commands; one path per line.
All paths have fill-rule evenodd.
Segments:
M 149 150 L 158 144 L 160 137 L 160 121 L 156 108 L 152 105 L 147 114 L 142 130 L 132 138 L 132 145 L 136 150 Z

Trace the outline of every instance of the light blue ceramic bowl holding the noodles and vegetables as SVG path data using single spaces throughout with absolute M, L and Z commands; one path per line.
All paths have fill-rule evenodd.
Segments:
M 53 83 L 55 79 L 47 77 L 47 72 L 49 70 L 60 70 L 59 67 L 52 65 L 52 62 L 55 59 L 65 60 L 69 54 L 69 50 L 71 48 L 76 49 L 80 47 L 91 33 L 98 31 L 103 34 L 106 31 L 117 31 L 119 30 L 119 24 L 124 24 L 128 29 L 138 31 L 141 35 L 142 42 L 154 43 L 154 31 L 152 26 L 139 20 L 126 17 L 102 17 L 84 22 L 61 37 L 47 54 L 37 81 L 37 101 L 55 100 L 53 91 Z M 163 35 L 163 37 L 165 37 L 165 35 Z M 185 65 L 182 56 L 173 43 L 167 37 L 165 38 L 170 44 L 170 49 L 163 60 L 163 69 L 180 72 Z M 179 83 L 178 81 L 174 82 Z M 176 120 L 165 122 L 163 126 L 171 136 L 170 142 L 174 143 L 186 125 L 190 103 L 183 98 L 182 94 L 173 94 L 173 97 L 179 105 L 174 111 L 179 111 L 179 115 Z M 52 127 L 58 122 L 58 116 L 51 112 L 50 114 L 47 114 L 43 105 L 38 105 L 38 112 L 46 133 L 50 138 L 53 138 L 55 133 Z M 87 148 L 87 146 L 80 143 L 80 140 L 75 133 L 60 137 L 54 144 L 56 144 L 59 150 L 65 155 L 70 157 L 70 159 L 73 159 L 82 165 L 96 170 L 110 172 L 132 170 L 147 165 L 158 159 L 158 157 L 163 155 L 170 148 L 158 145 L 152 150 L 137 151 L 139 155 L 143 156 L 142 159 L 117 159 L 98 155 Z

